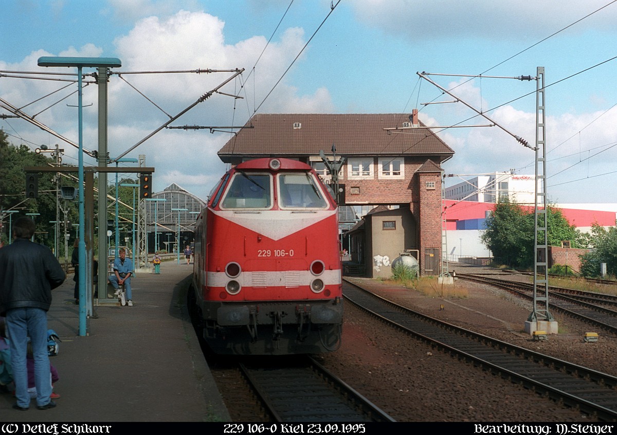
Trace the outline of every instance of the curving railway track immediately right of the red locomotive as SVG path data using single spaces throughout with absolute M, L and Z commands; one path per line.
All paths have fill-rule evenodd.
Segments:
M 578 407 L 600 420 L 617 421 L 615 376 L 458 328 L 394 304 L 355 284 L 344 283 L 344 296 L 360 309 L 460 360 Z

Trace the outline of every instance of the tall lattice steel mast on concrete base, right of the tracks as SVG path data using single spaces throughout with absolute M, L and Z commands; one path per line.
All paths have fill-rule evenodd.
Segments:
M 534 207 L 534 310 L 529 321 L 553 321 L 549 312 L 548 215 L 546 194 L 546 113 L 544 67 L 536 78 L 536 201 Z M 540 208 L 541 207 L 541 208 Z M 541 302 L 541 304 L 538 304 Z

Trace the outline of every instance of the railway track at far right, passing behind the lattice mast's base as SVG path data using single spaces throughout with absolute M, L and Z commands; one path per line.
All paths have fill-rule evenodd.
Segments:
M 533 284 L 487 278 L 486 276 L 457 274 L 457 278 L 499 286 L 517 296 L 532 300 Z M 617 311 L 603 305 L 617 307 L 617 297 L 609 294 L 579 290 L 549 288 L 549 309 L 558 310 L 590 325 L 617 335 Z

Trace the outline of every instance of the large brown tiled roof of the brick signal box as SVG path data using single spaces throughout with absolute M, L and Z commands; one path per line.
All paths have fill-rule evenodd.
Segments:
M 442 155 L 452 148 L 431 130 L 399 130 L 408 114 L 257 114 L 218 151 L 231 155 Z M 294 128 L 296 123 L 296 128 Z M 299 125 L 299 128 L 298 128 Z M 420 125 L 423 125 L 420 123 Z

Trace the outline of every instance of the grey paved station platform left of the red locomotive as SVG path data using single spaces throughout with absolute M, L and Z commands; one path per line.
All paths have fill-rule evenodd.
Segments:
M 184 260 L 184 259 L 181 259 Z M 52 291 L 48 327 L 60 336 L 49 360 L 60 380 L 56 408 L 12 409 L 0 394 L 5 422 L 231 421 L 186 311 L 193 264 L 164 262 L 160 275 L 131 280 L 133 307 L 94 307 L 80 336 L 73 275 Z

